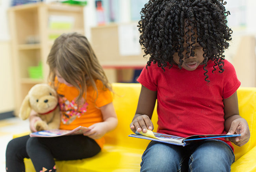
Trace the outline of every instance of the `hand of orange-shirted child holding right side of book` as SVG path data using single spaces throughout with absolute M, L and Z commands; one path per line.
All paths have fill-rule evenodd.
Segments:
M 102 136 L 107 133 L 106 125 L 104 122 L 95 123 L 88 128 L 90 128 L 90 130 L 86 131 L 84 136 L 88 136 L 94 140 L 102 138 Z

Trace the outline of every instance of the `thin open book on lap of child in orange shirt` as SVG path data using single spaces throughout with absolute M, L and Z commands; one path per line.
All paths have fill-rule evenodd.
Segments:
M 58 136 L 67 136 L 67 135 L 76 135 L 83 134 L 90 129 L 87 127 L 79 126 L 73 130 L 60 130 L 60 129 L 51 129 L 44 131 L 37 131 L 35 133 L 30 133 L 30 137 L 58 137 Z

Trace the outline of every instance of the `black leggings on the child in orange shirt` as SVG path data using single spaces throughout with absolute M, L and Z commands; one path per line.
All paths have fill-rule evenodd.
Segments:
M 39 138 L 23 136 L 11 140 L 6 149 L 7 172 L 25 172 L 24 158 L 31 158 L 37 172 L 56 172 L 56 160 L 89 158 L 101 151 L 99 145 L 83 135 Z M 47 169 L 47 170 L 46 170 Z

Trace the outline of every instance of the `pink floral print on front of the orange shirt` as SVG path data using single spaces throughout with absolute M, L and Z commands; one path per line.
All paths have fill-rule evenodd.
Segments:
M 80 118 L 81 115 L 86 113 L 88 103 L 85 102 L 84 98 L 80 100 L 82 105 L 79 105 L 75 102 L 75 99 L 71 102 L 63 96 L 59 96 L 59 105 L 60 105 L 60 114 L 61 114 L 61 120 L 63 124 L 70 124 L 73 122 L 76 118 Z

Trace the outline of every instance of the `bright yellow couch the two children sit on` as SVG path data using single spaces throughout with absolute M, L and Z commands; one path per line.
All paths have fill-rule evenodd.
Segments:
M 106 134 L 106 145 L 93 158 L 73 161 L 56 161 L 58 172 L 139 172 L 141 155 L 149 141 L 128 137 L 129 128 L 137 108 L 140 84 L 114 83 L 113 104 L 119 124 L 111 133 Z M 249 124 L 251 138 L 243 147 L 234 145 L 236 161 L 231 166 L 232 172 L 256 171 L 256 88 L 239 88 L 238 101 L 240 115 Z M 157 113 L 154 111 L 152 121 L 156 131 Z M 26 172 L 35 172 L 30 159 L 25 159 Z

